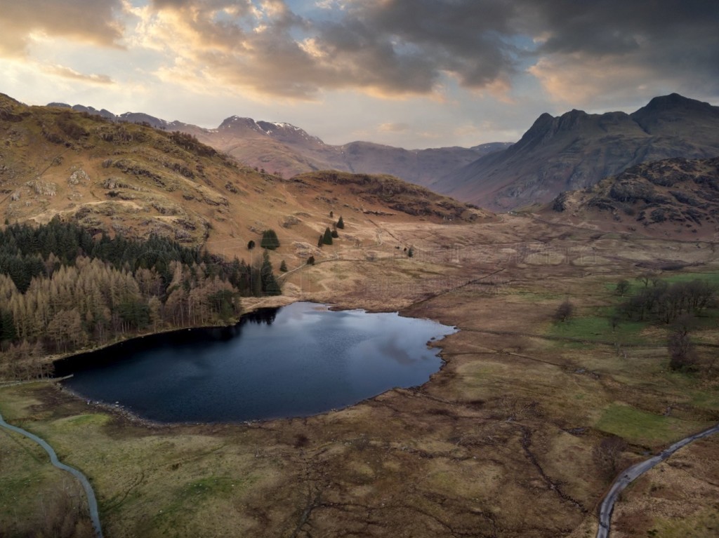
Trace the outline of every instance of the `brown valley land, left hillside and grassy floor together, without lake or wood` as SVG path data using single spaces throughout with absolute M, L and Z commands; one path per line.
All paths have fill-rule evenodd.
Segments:
M 711 194 L 711 160 L 569 193 L 564 211 L 495 214 L 386 175 L 285 178 L 187 135 L 1 104 L 4 226 L 58 217 L 247 261 L 260 256 L 248 241 L 272 228 L 280 246 L 268 256 L 290 269 L 277 273 L 282 294 L 242 297 L 244 311 L 311 300 L 459 329 L 428 343 L 445 363 L 425 384 L 298 419 L 162 425 L 52 382 L 5 381 L 1 414 L 90 478 L 107 537 L 590 538 L 620 470 L 719 421 L 714 306 L 691 329 L 690 371 L 669 368 L 673 325 L 612 316 L 626 300 L 621 280 L 628 295 L 651 279 L 719 282 L 713 200 L 703 198 L 700 225 L 654 199 Z M 677 170 L 681 185 L 659 185 Z M 630 179 L 644 190 L 627 192 L 651 184 L 654 198 L 608 194 Z M 679 207 L 689 221 L 644 226 L 644 206 L 626 211 L 633 203 Z M 340 216 L 338 237 L 319 246 Z M 718 443 L 700 440 L 633 483 L 611 536 L 713 532 Z M 37 447 L 3 434 L 0 451 L 9 535 L 88 533 L 75 484 Z

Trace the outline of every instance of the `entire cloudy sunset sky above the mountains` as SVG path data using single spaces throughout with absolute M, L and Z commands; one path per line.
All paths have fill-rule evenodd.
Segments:
M 328 144 L 513 142 L 544 112 L 719 104 L 719 1 L 0 0 L 0 93 Z

